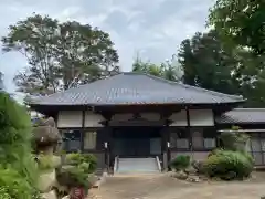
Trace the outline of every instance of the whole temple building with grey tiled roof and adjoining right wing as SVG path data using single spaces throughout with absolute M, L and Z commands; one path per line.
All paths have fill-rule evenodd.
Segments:
M 152 159 L 162 170 L 177 155 L 204 159 L 232 126 L 250 133 L 248 150 L 256 165 L 265 165 L 265 109 L 237 108 L 244 102 L 148 74 L 120 73 L 30 106 L 55 118 L 66 151 L 92 153 L 99 168 L 118 171 L 126 161 L 147 167 Z

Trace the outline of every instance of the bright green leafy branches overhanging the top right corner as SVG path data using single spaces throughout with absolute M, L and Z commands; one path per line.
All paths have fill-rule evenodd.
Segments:
M 251 48 L 256 54 L 265 52 L 265 1 L 218 0 L 210 10 L 213 25 L 229 44 Z

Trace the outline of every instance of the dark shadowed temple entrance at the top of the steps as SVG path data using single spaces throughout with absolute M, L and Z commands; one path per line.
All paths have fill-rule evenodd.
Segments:
M 114 157 L 155 157 L 161 155 L 160 127 L 117 127 L 113 129 Z

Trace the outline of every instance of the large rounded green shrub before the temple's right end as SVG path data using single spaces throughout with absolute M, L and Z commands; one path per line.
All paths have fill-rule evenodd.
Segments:
M 251 175 L 253 163 L 240 151 L 215 150 L 204 161 L 203 170 L 210 177 L 224 180 L 243 179 Z

